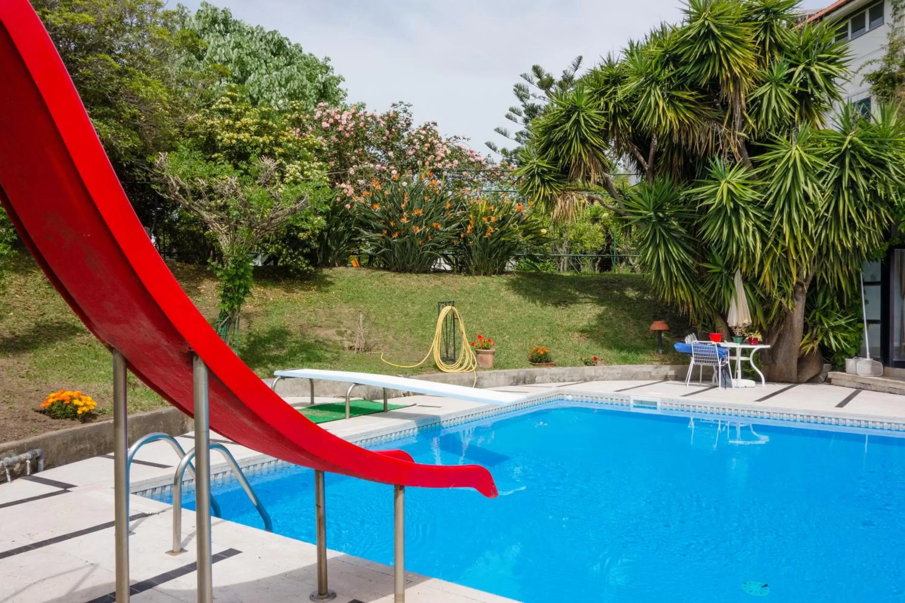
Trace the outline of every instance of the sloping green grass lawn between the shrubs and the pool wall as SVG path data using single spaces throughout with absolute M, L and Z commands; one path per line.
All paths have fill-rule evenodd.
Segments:
M 204 268 L 170 268 L 202 313 L 216 315 L 216 281 Z M 665 363 L 648 330 L 665 317 L 673 333 L 688 327 L 653 300 L 639 275 L 518 274 L 465 277 L 403 275 L 370 269 L 324 269 L 310 278 L 256 275 L 242 316 L 240 355 L 254 372 L 330 368 L 350 371 L 433 372 L 433 363 L 402 370 L 382 363 L 420 361 L 433 339 L 437 302 L 454 300 L 470 338 L 497 342 L 496 367 L 529 366 L 528 351 L 544 345 L 557 365 L 599 356 L 608 364 Z M 364 314 L 369 351 L 356 353 L 358 314 Z M 672 340 L 667 347 L 671 350 Z M 0 441 L 69 427 L 33 412 L 50 391 L 80 389 L 108 412 L 110 353 L 71 312 L 27 254 L 14 258 L 0 295 Z M 150 410 L 165 402 L 135 379 L 129 407 Z

